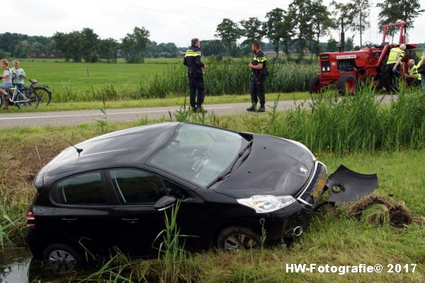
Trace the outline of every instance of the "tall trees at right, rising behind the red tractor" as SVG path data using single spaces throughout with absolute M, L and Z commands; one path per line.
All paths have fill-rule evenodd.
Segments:
M 231 53 L 239 39 L 242 45 L 249 45 L 254 40 L 267 38 L 275 47 L 276 56 L 280 50 L 289 58 L 291 47 L 297 46 L 298 57 L 302 58 L 305 51 L 319 54 L 323 51 L 320 38 L 329 35 L 331 30 L 339 29 L 340 19 L 353 33 L 360 35 L 360 45 L 363 46 L 363 35 L 370 28 L 370 0 L 332 1 L 331 7 L 322 4 L 321 0 L 293 0 L 288 8 L 274 8 L 266 13 L 266 21 L 251 17 L 239 23 L 224 18 L 217 25 L 215 36 L 225 45 L 226 54 Z M 421 8 L 420 0 L 386 0 L 377 4 L 380 8 L 379 24 L 408 21 L 407 28 L 413 28 L 412 22 L 425 10 Z M 392 35 L 396 30 L 391 30 Z M 348 44 L 352 45 L 352 37 Z M 327 51 L 336 50 L 336 40 L 330 38 Z M 349 49 L 348 49 L 349 50 Z

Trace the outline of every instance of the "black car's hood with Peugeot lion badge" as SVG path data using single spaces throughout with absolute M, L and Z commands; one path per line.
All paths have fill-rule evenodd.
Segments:
M 229 177 L 212 187 L 234 198 L 252 195 L 296 195 L 314 169 L 314 156 L 304 145 L 254 134 L 251 153 Z

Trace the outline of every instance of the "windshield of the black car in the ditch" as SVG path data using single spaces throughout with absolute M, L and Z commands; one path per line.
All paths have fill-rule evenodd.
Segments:
M 225 172 L 248 141 L 224 129 L 182 124 L 169 144 L 149 163 L 200 186 Z

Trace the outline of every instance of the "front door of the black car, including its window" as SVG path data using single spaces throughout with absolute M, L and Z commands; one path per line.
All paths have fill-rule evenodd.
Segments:
M 130 255 L 157 255 L 165 222 L 164 211 L 154 209 L 154 204 L 164 195 L 184 202 L 190 199 L 188 191 L 134 168 L 113 169 L 107 175 L 121 203 L 113 217 L 119 227 L 118 247 Z

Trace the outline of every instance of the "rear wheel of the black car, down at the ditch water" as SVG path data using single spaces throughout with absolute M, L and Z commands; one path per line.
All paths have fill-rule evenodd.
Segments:
M 49 262 L 50 269 L 55 272 L 68 272 L 84 264 L 77 250 L 62 243 L 47 246 L 42 258 Z

